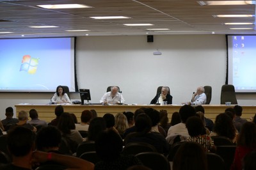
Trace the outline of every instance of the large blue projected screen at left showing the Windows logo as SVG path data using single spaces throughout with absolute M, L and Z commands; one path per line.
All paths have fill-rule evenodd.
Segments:
M 75 91 L 74 38 L 0 39 L 0 91 Z

